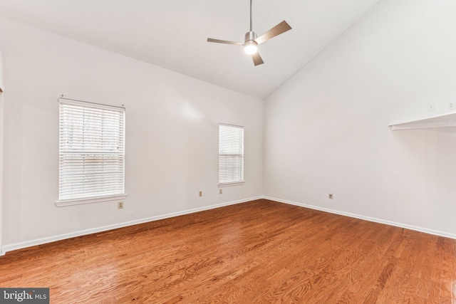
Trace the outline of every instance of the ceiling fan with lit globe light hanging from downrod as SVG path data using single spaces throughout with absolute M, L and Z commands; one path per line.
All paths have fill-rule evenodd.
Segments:
M 244 36 L 244 43 L 242 42 L 234 42 L 234 41 L 226 41 L 226 40 L 219 40 L 213 38 L 207 38 L 207 42 L 214 42 L 214 43 L 224 43 L 224 44 L 234 44 L 235 46 L 244 46 L 244 52 L 252 55 L 252 59 L 254 60 L 254 65 L 263 64 L 264 61 L 261 59 L 258 53 L 258 45 L 268 41 L 275 36 L 279 36 L 281 33 L 285 33 L 286 31 L 291 30 L 291 26 L 289 26 L 286 21 L 281 21 L 281 23 L 277 24 L 266 33 L 262 34 L 261 36 L 257 37 L 257 33 L 252 31 L 252 0 L 250 0 L 250 31 L 245 33 Z

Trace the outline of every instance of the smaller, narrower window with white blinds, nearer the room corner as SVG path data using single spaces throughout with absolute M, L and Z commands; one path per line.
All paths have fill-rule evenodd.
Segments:
M 219 186 L 244 184 L 244 127 L 219 124 Z

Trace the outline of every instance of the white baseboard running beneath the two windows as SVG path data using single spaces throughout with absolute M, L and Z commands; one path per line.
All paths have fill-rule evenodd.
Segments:
M 159 216 L 151 216 L 151 217 L 147 217 L 147 218 L 144 218 L 144 219 L 136 219 L 134 221 L 125 221 L 123 223 L 112 224 L 112 225 L 108 225 L 108 226 L 101 226 L 101 227 L 96 227 L 96 228 L 93 228 L 93 229 L 75 231 L 75 232 L 71 232 L 71 233 L 68 233 L 68 234 L 59 234 L 58 236 L 48 236 L 46 238 L 34 239 L 34 240 L 31 240 L 31 241 L 24 241 L 24 242 L 20 242 L 20 243 L 12 243 L 12 244 L 5 245 L 5 246 L 0 248 L 0 256 L 3 256 L 7 251 L 14 251 L 14 250 L 17 250 L 17 249 L 22 249 L 22 248 L 27 248 L 27 247 L 31 247 L 31 246 L 42 245 L 44 243 L 51 243 L 51 242 L 54 242 L 54 241 L 61 241 L 61 240 L 64 240 L 64 239 L 71 239 L 71 238 L 75 238 L 77 236 L 85 236 L 87 234 L 96 234 L 98 232 L 103 232 L 103 231 L 123 228 L 123 227 L 127 227 L 127 226 L 133 226 L 133 225 L 137 225 L 137 224 L 143 224 L 143 223 L 147 223 L 147 222 L 150 222 L 150 221 L 158 221 L 160 219 L 169 219 L 170 217 L 174 217 L 174 216 L 192 214 L 192 213 L 195 213 L 195 212 L 215 209 L 215 208 L 219 208 L 219 207 L 223 207 L 223 206 L 241 204 L 241 203 L 245 203 L 247 201 L 254 201 L 256 199 L 261 199 L 261 198 L 262 198 L 262 196 L 258 196 L 258 197 L 251 197 L 249 199 L 240 199 L 238 201 L 228 201 L 228 202 L 222 203 L 222 204 L 215 204 L 215 205 L 204 206 L 204 207 L 195 208 L 195 209 L 188 209 L 188 210 L 185 210 L 185 211 L 172 212 L 172 213 L 169 213 L 169 214 L 162 214 L 162 215 L 159 215 Z

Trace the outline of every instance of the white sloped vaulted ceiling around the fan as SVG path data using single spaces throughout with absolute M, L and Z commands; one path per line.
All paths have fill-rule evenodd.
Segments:
M 293 28 L 266 43 L 254 66 L 242 46 L 249 0 L 0 0 L 0 14 L 215 85 L 265 98 L 356 23 L 379 0 L 254 0 L 258 35 L 282 20 Z

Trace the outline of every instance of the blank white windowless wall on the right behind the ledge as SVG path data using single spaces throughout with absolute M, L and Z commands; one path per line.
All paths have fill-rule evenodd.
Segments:
M 455 16 L 380 1 L 266 98 L 264 194 L 456 238 L 456 128 L 388 128 L 456 101 Z

